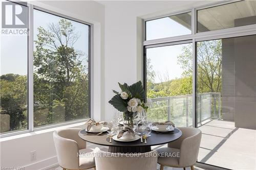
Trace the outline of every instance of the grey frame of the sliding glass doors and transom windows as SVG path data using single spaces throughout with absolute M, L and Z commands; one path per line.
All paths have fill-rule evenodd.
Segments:
M 256 24 L 253 25 L 247 25 L 247 26 L 240 26 L 240 27 L 233 27 L 233 28 L 227 28 L 227 29 L 221 29 L 221 30 L 214 30 L 214 31 L 207 31 L 207 32 L 197 32 L 197 11 L 202 9 L 207 9 L 211 7 L 236 3 L 244 0 L 235 0 L 235 1 L 225 1 L 225 2 L 217 2 L 217 3 L 211 3 L 204 6 L 199 6 L 183 11 L 168 13 L 166 15 L 161 15 L 154 18 L 147 18 L 143 19 L 143 34 L 142 34 L 142 49 L 143 49 L 143 60 L 142 60 L 142 79 L 143 79 L 143 85 L 144 90 L 146 92 L 146 48 L 148 47 L 157 47 L 157 46 L 164 46 L 165 44 L 182 44 L 186 41 L 192 41 L 193 44 L 193 127 L 197 128 L 198 125 L 198 117 L 197 117 L 197 42 L 200 41 L 207 41 L 207 40 L 215 40 L 215 39 L 224 39 L 224 38 L 233 38 L 233 37 L 241 37 L 241 36 L 250 36 L 250 35 L 256 35 Z M 170 16 L 170 15 L 177 15 L 184 12 L 191 11 L 191 35 L 182 35 L 182 36 L 176 36 L 176 37 L 168 37 L 168 38 L 159 38 L 154 40 L 146 40 L 145 36 L 145 21 L 151 20 L 151 19 L 157 19 L 162 18 L 163 16 Z M 146 93 L 145 93 L 146 95 Z M 145 96 L 146 97 L 146 96 Z M 218 168 L 219 166 L 210 165 L 202 162 L 197 162 L 198 165 L 206 168 Z M 221 167 L 223 168 L 223 167 Z M 223 168 L 225 169 L 225 168 Z

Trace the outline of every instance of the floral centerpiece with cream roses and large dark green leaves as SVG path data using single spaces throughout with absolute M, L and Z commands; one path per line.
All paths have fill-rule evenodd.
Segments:
M 139 112 L 147 110 L 151 105 L 151 100 L 145 102 L 145 91 L 141 81 L 132 84 L 131 86 L 119 84 L 121 92 L 113 90 L 116 94 L 109 103 L 114 106 L 118 111 L 123 112 L 123 119 L 125 124 L 129 127 L 133 127 L 133 118 Z

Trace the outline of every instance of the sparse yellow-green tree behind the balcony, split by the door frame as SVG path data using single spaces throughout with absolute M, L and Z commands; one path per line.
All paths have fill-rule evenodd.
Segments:
M 193 74 L 193 55 L 188 46 L 183 47 L 178 62 L 184 69 L 183 75 Z M 198 92 L 221 92 L 222 41 L 211 40 L 197 43 L 197 86 Z

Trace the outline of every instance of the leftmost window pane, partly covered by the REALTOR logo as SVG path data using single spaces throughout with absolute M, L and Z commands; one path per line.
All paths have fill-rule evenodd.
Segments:
M 7 3 L 6 8 L 15 6 L 14 3 L 5 3 Z M 27 15 L 27 7 L 22 6 L 22 8 Z M 3 30 L 9 31 L 9 29 Z M 28 128 L 28 36 L 26 34 L 1 34 L 0 63 L 0 133 L 26 130 Z

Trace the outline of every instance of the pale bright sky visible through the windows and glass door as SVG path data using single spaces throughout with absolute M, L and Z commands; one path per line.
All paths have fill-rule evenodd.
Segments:
M 49 22 L 57 23 L 60 17 L 34 10 L 34 40 L 37 39 L 37 28 L 42 26 L 47 28 Z M 75 49 L 88 54 L 88 26 L 79 22 L 71 21 L 80 37 Z M 180 23 L 169 17 L 155 19 L 146 22 L 146 39 L 157 39 L 178 35 L 191 34 L 191 31 Z M 27 37 L 26 36 L 1 36 L 1 75 L 13 73 L 27 75 Z M 155 82 L 161 80 L 159 76 L 168 72 L 169 79 L 180 78 L 183 72 L 177 63 L 177 56 L 182 54 L 182 47 L 187 44 L 171 45 L 147 48 L 147 58 L 151 59 L 151 64 L 156 72 Z M 83 64 L 87 64 L 86 62 Z

